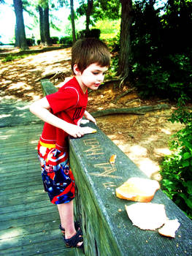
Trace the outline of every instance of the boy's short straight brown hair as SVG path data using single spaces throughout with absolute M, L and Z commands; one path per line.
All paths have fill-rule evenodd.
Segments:
M 72 71 L 74 64 L 77 64 L 80 72 L 93 63 L 97 63 L 101 67 L 110 67 L 110 60 L 110 50 L 99 39 L 79 39 L 72 47 Z

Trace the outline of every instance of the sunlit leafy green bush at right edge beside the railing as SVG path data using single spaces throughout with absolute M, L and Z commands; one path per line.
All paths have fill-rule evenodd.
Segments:
M 192 219 L 192 109 L 182 96 L 169 121 L 185 124 L 170 144 L 173 153 L 161 163 L 161 189 Z

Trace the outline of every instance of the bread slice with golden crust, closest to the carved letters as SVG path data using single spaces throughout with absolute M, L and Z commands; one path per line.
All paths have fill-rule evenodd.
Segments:
M 128 178 L 128 180 L 115 189 L 116 196 L 121 199 L 137 201 L 137 202 L 150 202 L 155 192 L 160 189 L 158 181 L 149 178 Z

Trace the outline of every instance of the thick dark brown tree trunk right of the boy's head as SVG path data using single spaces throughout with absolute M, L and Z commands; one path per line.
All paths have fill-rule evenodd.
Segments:
M 129 59 L 131 53 L 131 23 L 132 23 L 132 0 L 120 0 L 121 22 L 120 22 L 120 56 L 118 75 L 126 80 L 129 75 Z

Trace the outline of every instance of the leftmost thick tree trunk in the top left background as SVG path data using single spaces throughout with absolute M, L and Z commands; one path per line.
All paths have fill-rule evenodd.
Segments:
M 23 20 L 23 4 L 21 0 L 13 0 L 15 17 L 16 17 L 16 26 L 17 26 L 17 36 L 19 47 L 23 50 L 28 49 L 27 41 L 26 41 L 26 32 Z

